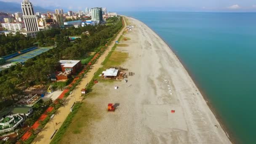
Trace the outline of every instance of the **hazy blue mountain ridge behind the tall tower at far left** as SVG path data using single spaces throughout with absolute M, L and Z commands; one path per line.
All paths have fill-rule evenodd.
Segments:
M 34 11 L 40 12 L 40 13 L 46 13 L 47 11 L 54 11 L 51 9 L 42 8 L 40 6 L 35 6 Z M 22 12 L 21 11 L 21 3 L 12 3 L 12 2 L 2 2 L 0 1 L 0 12 L 6 12 L 6 13 L 16 13 L 16 12 Z

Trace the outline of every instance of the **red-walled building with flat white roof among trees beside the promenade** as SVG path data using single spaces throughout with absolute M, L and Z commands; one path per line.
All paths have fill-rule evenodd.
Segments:
M 62 72 L 72 72 L 75 74 L 79 69 L 82 68 L 81 61 L 74 60 L 60 60 Z

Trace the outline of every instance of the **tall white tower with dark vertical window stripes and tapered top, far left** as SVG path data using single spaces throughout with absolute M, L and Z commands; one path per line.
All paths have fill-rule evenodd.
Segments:
M 21 3 L 24 24 L 28 32 L 39 31 L 37 17 L 35 16 L 32 3 L 29 0 L 23 0 Z

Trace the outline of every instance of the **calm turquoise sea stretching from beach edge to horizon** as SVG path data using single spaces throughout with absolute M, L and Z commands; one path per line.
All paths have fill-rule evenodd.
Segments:
M 120 12 L 181 59 L 239 144 L 256 144 L 256 13 Z

